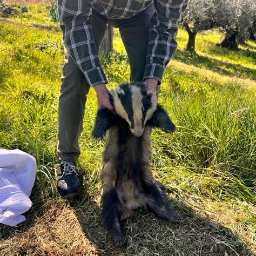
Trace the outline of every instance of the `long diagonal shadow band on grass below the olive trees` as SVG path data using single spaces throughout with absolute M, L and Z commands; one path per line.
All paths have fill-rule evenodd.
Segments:
M 237 76 L 239 73 L 241 73 L 242 76 L 256 79 L 255 70 L 242 67 L 241 65 L 231 64 L 219 59 L 191 54 L 180 50 L 177 50 L 175 59 L 187 65 L 193 65 L 197 68 L 218 72 L 220 75 Z

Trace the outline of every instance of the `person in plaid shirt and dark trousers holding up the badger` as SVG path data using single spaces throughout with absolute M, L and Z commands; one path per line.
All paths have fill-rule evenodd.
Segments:
M 77 196 L 80 180 L 75 162 L 80 150 L 86 95 L 97 93 L 98 110 L 110 103 L 98 51 L 107 24 L 118 28 L 131 67 L 131 81 L 157 91 L 177 48 L 176 35 L 188 0 L 58 0 L 65 57 L 58 110 L 57 189 Z

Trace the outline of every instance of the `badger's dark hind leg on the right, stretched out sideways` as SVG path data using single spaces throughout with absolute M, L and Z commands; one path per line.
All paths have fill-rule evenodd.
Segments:
M 147 209 L 159 219 L 167 219 L 171 222 L 178 223 L 181 217 L 174 213 L 170 207 L 164 186 L 159 181 L 155 182 L 146 185 Z

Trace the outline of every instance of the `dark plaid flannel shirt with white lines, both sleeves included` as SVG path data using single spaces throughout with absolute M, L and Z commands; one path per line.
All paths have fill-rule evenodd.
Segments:
M 188 0 L 154 0 L 144 79 L 163 79 L 165 66 L 177 48 L 178 22 Z M 130 18 L 152 0 L 58 0 L 60 28 L 71 57 L 91 86 L 107 83 L 91 33 L 92 8 L 112 19 Z

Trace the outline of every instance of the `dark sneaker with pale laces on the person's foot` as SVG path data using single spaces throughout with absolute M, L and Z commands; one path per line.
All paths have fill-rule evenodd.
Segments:
M 59 159 L 56 165 L 58 172 L 57 190 L 60 197 L 76 197 L 80 193 L 81 183 L 75 163 Z

